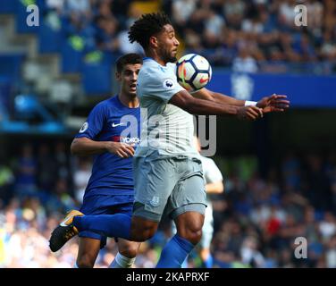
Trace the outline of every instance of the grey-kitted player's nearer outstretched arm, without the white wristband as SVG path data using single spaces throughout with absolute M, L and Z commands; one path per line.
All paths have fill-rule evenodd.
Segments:
M 231 115 L 245 120 L 256 120 L 257 118 L 263 116 L 262 109 L 256 106 L 235 106 L 220 104 L 212 100 L 192 97 L 186 90 L 181 90 L 173 95 L 169 103 L 180 107 L 189 114 Z

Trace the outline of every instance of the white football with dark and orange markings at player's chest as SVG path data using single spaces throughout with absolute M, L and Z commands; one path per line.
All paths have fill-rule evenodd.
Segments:
M 188 91 L 204 88 L 211 80 L 211 65 L 202 55 L 183 55 L 176 65 L 177 81 Z

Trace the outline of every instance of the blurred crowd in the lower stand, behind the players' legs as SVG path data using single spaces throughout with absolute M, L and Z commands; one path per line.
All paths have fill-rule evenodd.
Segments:
M 70 156 L 68 143 L 26 144 L 0 165 L 0 267 L 72 267 L 77 238 L 50 252 L 50 232 L 64 212 L 78 208 L 90 175 L 88 158 Z M 284 156 L 267 178 L 237 158 L 214 158 L 225 192 L 213 195 L 214 267 L 336 267 L 336 155 Z M 230 160 L 231 167 L 225 167 Z M 237 164 L 236 164 L 237 163 Z M 242 167 L 243 166 L 243 167 Z M 143 243 L 135 267 L 154 267 L 171 236 L 168 220 Z M 307 240 L 307 258 L 295 240 Z M 116 254 L 109 239 L 96 267 Z M 202 267 L 197 252 L 189 267 Z

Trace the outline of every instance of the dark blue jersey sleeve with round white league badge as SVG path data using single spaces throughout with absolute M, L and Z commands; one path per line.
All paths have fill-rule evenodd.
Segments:
M 86 137 L 88 139 L 96 139 L 97 135 L 103 130 L 105 123 L 105 105 L 102 103 L 96 105 L 90 114 L 88 114 L 88 119 L 82 127 L 79 133 L 75 136 L 76 138 Z

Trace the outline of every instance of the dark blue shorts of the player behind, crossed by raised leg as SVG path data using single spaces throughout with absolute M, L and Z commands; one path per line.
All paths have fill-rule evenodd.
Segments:
M 97 195 L 84 198 L 80 212 L 83 214 L 127 214 L 132 215 L 133 195 Z M 106 237 L 93 231 L 80 231 L 80 238 L 100 240 L 100 248 L 104 248 Z

